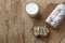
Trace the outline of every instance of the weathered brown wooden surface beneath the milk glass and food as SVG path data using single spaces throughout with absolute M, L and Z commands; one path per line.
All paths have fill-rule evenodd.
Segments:
M 42 40 L 32 34 L 34 20 L 25 12 L 25 5 L 30 1 L 39 4 L 42 15 L 35 24 L 47 25 L 50 30 L 50 35 Z M 65 43 L 65 19 L 56 29 L 44 22 L 57 3 L 64 3 L 64 0 L 0 0 L 0 43 Z

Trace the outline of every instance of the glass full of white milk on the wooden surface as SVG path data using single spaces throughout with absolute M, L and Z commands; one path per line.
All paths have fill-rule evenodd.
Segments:
M 39 6 L 37 3 L 35 2 L 29 2 L 26 5 L 26 12 L 30 15 L 30 16 L 36 16 L 37 13 L 39 11 Z

